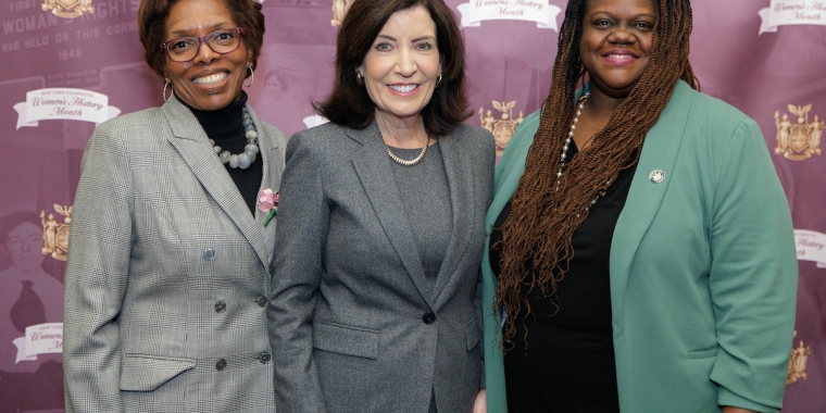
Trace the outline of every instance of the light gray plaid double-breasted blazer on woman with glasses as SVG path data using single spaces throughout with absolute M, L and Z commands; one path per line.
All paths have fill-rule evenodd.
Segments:
M 286 138 L 250 112 L 277 190 Z M 66 410 L 274 411 L 275 221 L 250 214 L 195 115 L 171 99 L 101 124 L 74 206 Z

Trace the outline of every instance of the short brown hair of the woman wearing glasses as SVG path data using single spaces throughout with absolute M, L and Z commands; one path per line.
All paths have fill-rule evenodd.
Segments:
M 166 68 L 166 54 L 160 45 L 166 41 L 166 20 L 178 0 L 141 0 L 138 8 L 138 33 L 143 43 L 143 60 L 161 77 Z M 243 27 L 243 45 L 252 50 L 252 68 L 258 66 L 261 45 L 264 42 L 264 13 L 261 3 L 253 0 L 222 0 L 233 21 Z M 247 73 L 247 77 L 249 77 Z

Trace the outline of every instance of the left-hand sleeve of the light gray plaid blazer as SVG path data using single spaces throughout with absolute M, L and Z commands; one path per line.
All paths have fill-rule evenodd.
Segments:
M 121 412 L 117 316 L 133 241 L 133 187 L 111 123 L 87 145 L 75 196 L 65 278 L 63 370 L 67 412 Z

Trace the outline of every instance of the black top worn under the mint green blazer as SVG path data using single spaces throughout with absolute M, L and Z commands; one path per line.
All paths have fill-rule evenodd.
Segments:
M 567 159 L 577 152 L 571 145 Z M 528 295 L 528 287 L 523 287 L 521 295 L 527 297 L 531 314 L 520 313 L 514 341 L 509 343 L 513 348 L 504 356 L 510 412 L 620 411 L 609 259 L 635 170 L 620 173 L 574 231 L 575 254 L 556 293 L 547 298 L 535 288 Z M 502 239 L 499 228 L 510 213 L 509 202 L 493 224 L 491 246 Z M 500 260 L 499 248 L 491 248 L 490 266 L 497 276 Z

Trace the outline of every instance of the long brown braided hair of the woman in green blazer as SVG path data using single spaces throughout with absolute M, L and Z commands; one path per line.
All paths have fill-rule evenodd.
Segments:
M 580 151 L 566 165 L 558 187 L 559 157 L 576 112 L 576 89 L 585 74 L 579 42 L 589 3 L 568 1 L 551 91 L 542 105 L 525 172 L 511 199 L 511 214 L 501 227 L 502 261 L 495 306 L 506 311 L 504 343 L 514 338 L 514 323 L 523 305 L 530 314 L 526 297 L 520 295 L 522 287 L 529 287 L 531 292 L 539 289 L 543 297 L 553 298 L 574 256 L 574 230 L 612 178 L 637 163 L 646 134 L 660 117 L 677 80 L 699 90 L 688 62 L 692 25 L 689 0 L 652 1 L 656 22 L 648 67 L 605 127 L 593 136 L 588 150 Z M 505 345 L 504 350 L 508 348 Z

